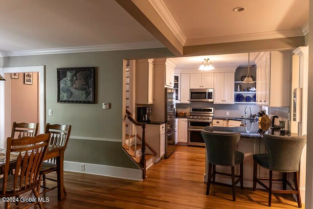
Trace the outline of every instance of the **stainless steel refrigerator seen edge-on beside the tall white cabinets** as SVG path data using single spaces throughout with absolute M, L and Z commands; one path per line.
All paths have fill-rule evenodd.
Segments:
M 165 154 L 168 158 L 175 151 L 175 89 L 165 88 Z

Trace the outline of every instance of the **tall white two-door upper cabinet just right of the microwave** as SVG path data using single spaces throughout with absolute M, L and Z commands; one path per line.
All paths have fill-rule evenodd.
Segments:
M 214 73 L 214 104 L 234 104 L 234 72 Z

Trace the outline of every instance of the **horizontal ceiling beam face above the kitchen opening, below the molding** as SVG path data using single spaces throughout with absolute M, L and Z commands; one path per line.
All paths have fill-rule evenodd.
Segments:
M 183 55 L 202 56 L 258 51 L 279 51 L 295 49 L 298 46 L 304 46 L 304 36 L 221 44 L 184 46 Z

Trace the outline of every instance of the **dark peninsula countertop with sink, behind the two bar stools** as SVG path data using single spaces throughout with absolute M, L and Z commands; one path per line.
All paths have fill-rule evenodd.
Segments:
M 245 120 L 244 120 L 245 121 Z M 247 120 L 244 122 L 246 127 L 213 127 L 206 126 L 204 130 L 210 132 L 232 132 L 240 133 L 242 138 L 252 138 L 252 139 L 261 139 L 263 134 L 271 134 L 276 136 L 294 136 L 296 134 L 281 134 L 279 130 L 272 130 L 270 124 L 259 124 L 258 122 L 253 122 Z M 263 129 L 261 129 L 261 126 Z

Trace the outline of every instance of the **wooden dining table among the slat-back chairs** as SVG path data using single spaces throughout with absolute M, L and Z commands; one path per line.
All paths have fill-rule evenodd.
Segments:
M 0 168 L 5 164 L 5 153 L 6 145 L 0 145 Z M 63 200 L 66 195 L 66 189 L 64 186 L 63 172 L 64 172 L 64 152 L 65 146 L 48 145 L 47 151 L 45 153 L 44 161 L 51 158 L 56 158 L 57 165 L 57 186 L 58 186 L 58 200 Z M 18 153 L 11 153 L 10 163 L 16 162 Z

